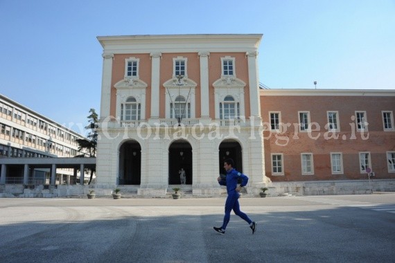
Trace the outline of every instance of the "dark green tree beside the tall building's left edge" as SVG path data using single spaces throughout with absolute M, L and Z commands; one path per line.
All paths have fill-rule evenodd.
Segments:
M 95 109 L 89 110 L 90 115 L 87 117 L 89 124 L 85 129 L 89 130 L 87 138 L 77 139 L 76 142 L 78 143 L 78 151 L 80 154 L 76 157 L 96 157 L 96 150 L 98 145 L 98 134 L 97 134 L 97 127 L 98 127 L 98 114 L 96 114 Z M 82 151 L 82 152 L 81 152 Z M 88 184 L 91 183 L 92 177 L 94 176 L 94 172 L 96 172 L 96 166 L 90 170 L 90 177 Z

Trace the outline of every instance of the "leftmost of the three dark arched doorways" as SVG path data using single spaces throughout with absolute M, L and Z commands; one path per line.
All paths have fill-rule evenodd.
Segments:
M 141 147 L 128 140 L 119 149 L 119 185 L 139 185 L 141 182 Z

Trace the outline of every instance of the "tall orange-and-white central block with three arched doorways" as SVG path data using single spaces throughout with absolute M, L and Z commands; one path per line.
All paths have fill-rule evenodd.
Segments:
M 265 181 L 258 93 L 261 35 L 98 37 L 103 82 L 98 187 L 165 194 L 220 191 L 232 157 L 249 186 Z M 184 172 L 182 172 L 184 170 Z

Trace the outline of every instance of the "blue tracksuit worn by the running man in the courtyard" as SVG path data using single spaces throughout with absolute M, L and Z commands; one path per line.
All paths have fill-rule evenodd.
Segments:
M 230 219 L 230 212 L 233 209 L 234 213 L 247 221 L 248 224 L 252 223 L 252 220 L 249 219 L 247 215 L 245 215 L 244 212 L 240 211 L 240 205 L 238 203 L 238 197 L 240 197 L 240 194 L 236 192 L 236 187 L 238 183 L 238 179 L 241 178 L 243 181 L 240 183 L 241 186 L 247 185 L 248 182 L 248 177 L 245 174 L 242 174 L 235 169 L 232 169 L 230 171 L 227 171 L 227 178 L 226 179 L 221 179 L 219 181 L 220 185 L 226 185 L 227 186 L 227 192 L 228 192 L 228 197 L 227 201 L 225 202 L 225 217 L 224 217 L 224 222 L 221 226 L 223 230 L 227 228 L 227 224 L 229 223 Z

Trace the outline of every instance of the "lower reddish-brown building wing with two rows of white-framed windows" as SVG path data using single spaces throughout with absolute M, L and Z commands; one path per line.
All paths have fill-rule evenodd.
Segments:
M 395 179 L 395 92 L 261 90 L 272 181 Z

